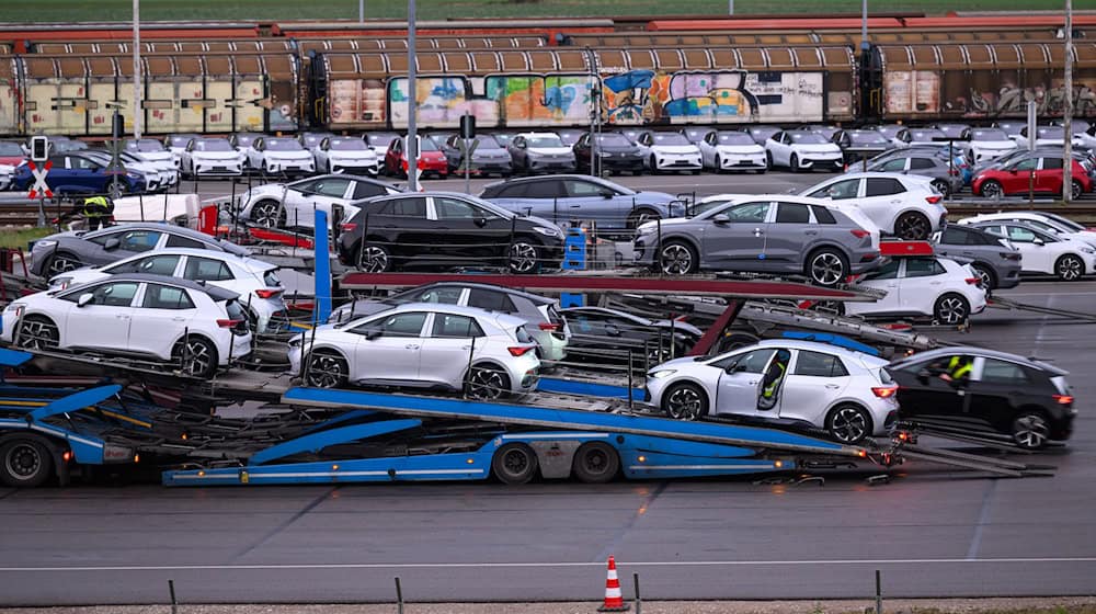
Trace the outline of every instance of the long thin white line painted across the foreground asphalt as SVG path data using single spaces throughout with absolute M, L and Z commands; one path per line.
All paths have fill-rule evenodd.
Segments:
M 911 558 L 911 559 L 831 559 L 831 560 L 671 560 L 621 562 L 621 567 L 742 567 L 742 566 L 807 566 L 807 565 L 940 565 L 940 564 L 1021 564 L 1036 562 L 1096 562 L 1096 557 L 1032 557 L 1032 558 Z M 308 570 L 308 569 L 486 569 L 486 568 L 552 568 L 604 567 L 597 562 L 333 562 L 305 565 L 117 565 L 95 567 L 0 567 L 0 572 L 55 572 L 55 571 L 222 571 L 222 570 Z

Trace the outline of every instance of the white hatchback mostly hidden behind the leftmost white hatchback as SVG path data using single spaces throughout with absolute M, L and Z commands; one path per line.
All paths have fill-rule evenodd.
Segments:
M 49 280 L 49 289 L 95 282 L 111 275 L 147 273 L 193 282 L 207 282 L 240 295 L 239 302 L 251 330 L 277 332 L 288 326 L 277 266 L 231 253 L 192 248 L 168 248 L 141 253 L 103 266 L 68 271 Z

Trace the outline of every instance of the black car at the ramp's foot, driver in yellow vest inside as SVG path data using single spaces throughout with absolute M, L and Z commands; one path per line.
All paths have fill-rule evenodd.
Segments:
M 962 368 L 967 364 L 971 367 Z M 958 346 L 914 354 L 887 372 L 899 384 L 902 420 L 963 434 L 1005 435 L 1028 450 L 1064 441 L 1073 431 L 1076 410 L 1066 372 L 1046 363 Z

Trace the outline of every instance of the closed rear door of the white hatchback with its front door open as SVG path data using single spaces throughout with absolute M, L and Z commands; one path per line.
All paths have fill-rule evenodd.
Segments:
M 826 409 L 845 394 L 850 382 L 838 356 L 799 350 L 780 393 L 779 417 L 823 427 Z

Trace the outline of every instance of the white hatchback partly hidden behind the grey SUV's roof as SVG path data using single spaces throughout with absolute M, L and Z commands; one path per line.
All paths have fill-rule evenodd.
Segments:
M 889 172 L 845 173 L 812 185 L 800 196 L 830 200 L 863 211 L 883 232 L 925 240 L 947 224 L 944 196 L 927 177 Z

